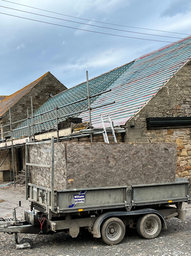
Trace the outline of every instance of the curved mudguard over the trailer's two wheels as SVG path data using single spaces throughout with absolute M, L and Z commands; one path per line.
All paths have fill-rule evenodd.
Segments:
M 130 212 L 110 212 L 110 213 L 104 213 L 100 215 L 96 220 L 93 225 L 93 237 L 100 238 L 101 233 L 100 233 L 100 227 L 102 225 L 102 222 L 105 219 L 108 219 L 109 217 L 124 217 L 124 216 L 132 216 L 132 215 L 146 215 L 149 213 L 155 213 L 156 215 L 159 216 L 161 219 L 161 224 L 164 229 L 167 229 L 166 225 L 166 220 L 164 219 L 164 216 L 159 213 L 159 211 L 151 209 L 151 208 L 146 208 L 142 210 L 131 210 Z

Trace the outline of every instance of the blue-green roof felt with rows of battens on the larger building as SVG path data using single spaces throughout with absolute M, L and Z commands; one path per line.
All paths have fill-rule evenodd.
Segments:
M 92 110 L 93 126 L 100 127 L 100 114 L 103 116 L 110 115 L 115 126 L 124 125 L 190 60 L 190 57 L 191 36 L 150 52 L 131 63 L 127 63 L 124 66 L 89 80 L 90 95 L 111 89 L 111 92 L 92 98 L 92 108 L 115 101 L 115 104 Z M 87 82 L 80 83 L 78 86 L 52 97 L 43 106 L 38 108 L 34 115 L 54 109 L 57 106 L 69 104 L 84 97 L 87 97 Z M 65 119 L 66 115 L 76 116 L 73 113 L 80 110 L 85 111 L 78 116 L 82 117 L 83 121 L 89 121 L 87 108 L 87 101 L 82 101 L 59 109 L 59 121 Z M 52 117 L 55 117 L 55 111 L 36 117 L 35 122 L 39 122 L 40 119 L 52 119 Z M 47 121 L 45 124 L 36 126 L 35 131 L 41 132 L 42 130 L 55 128 L 55 124 L 56 121 Z

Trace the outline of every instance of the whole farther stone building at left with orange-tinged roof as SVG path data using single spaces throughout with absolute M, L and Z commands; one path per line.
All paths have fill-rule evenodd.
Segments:
M 50 95 L 56 95 L 67 88 L 54 77 L 50 72 L 36 79 L 21 90 L 14 92 L 10 96 L 0 97 L 0 121 L 1 139 L 10 136 L 10 113 L 12 123 L 27 118 L 27 108 L 31 115 L 31 99 L 34 111 L 45 103 Z M 10 109 L 10 110 L 9 110 Z M 6 125 L 6 126 L 5 126 Z M 5 126 L 5 127 L 2 127 Z M 13 124 L 16 128 L 18 123 Z M 10 179 L 12 169 L 12 151 L 7 146 L 8 142 L 0 144 L 0 180 Z M 19 144 L 17 142 L 17 144 Z M 25 164 L 25 148 L 22 146 L 14 147 L 13 151 L 14 170 L 16 173 L 23 169 Z

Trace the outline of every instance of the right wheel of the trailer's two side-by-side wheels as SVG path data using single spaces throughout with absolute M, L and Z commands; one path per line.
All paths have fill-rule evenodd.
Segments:
M 161 232 L 161 219 L 155 214 L 147 214 L 137 221 L 137 233 L 146 239 L 153 239 Z

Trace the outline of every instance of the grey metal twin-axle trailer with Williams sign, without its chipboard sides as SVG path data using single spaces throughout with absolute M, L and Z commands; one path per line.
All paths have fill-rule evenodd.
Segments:
M 166 219 L 186 219 L 183 202 L 191 204 L 188 179 L 177 178 L 175 182 L 163 184 L 141 184 L 131 186 L 106 186 L 98 188 L 54 189 L 54 138 L 52 164 L 29 162 L 26 143 L 26 198 L 30 210 L 25 210 L 23 221 L 14 217 L 0 221 L 0 232 L 13 233 L 16 248 L 31 247 L 30 239 L 18 242 L 18 233 L 52 234 L 65 232 L 77 237 L 80 228 L 87 228 L 93 237 L 102 238 L 106 244 L 119 244 L 124 239 L 126 227 L 136 228 L 137 233 L 153 239 L 161 228 L 167 228 Z M 36 142 L 39 144 L 39 142 Z M 51 170 L 51 188 L 28 182 L 30 166 L 48 167 Z

